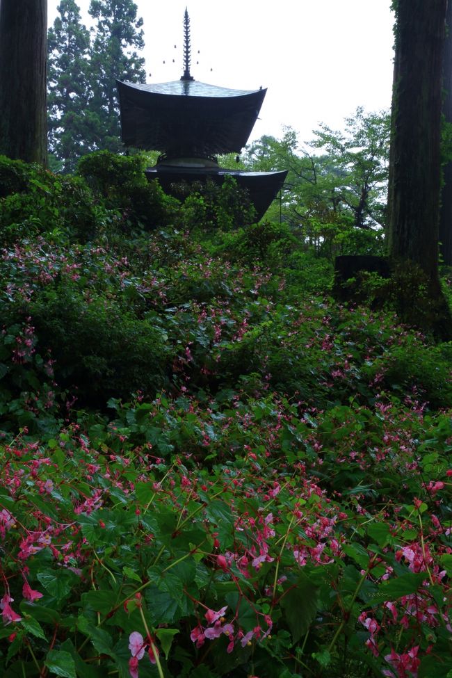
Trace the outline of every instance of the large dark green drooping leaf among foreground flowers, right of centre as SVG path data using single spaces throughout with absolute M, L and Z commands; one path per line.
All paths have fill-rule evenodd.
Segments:
M 281 607 L 291 631 L 293 643 L 307 633 L 317 611 L 318 588 L 300 573 L 296 585 L 281 599 Z

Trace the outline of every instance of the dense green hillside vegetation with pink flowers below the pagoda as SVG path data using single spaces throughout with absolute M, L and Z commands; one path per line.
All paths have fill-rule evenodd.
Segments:
M 401 322 L 414 277 L 339 305 L 332 248 L 144 162 L 0 160 L 2 675 L 450 678 L 452 348 Z

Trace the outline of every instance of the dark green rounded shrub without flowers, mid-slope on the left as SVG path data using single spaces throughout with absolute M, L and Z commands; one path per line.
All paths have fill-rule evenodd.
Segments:
M 40 346 L 51 351 L 58 385 L 80 405 L 102 408 L 111 396 L 155 394 L 165 383 L 163 333 L 115 300 L 60 284 L 32 300 L 27 312 Z

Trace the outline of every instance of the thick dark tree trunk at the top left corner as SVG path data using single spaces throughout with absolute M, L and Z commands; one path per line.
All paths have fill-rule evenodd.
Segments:
M 47 0 L 0 0 L 0 154 L 47 164 Z

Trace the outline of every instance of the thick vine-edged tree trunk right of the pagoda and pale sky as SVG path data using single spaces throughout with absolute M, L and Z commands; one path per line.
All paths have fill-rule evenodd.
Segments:
M 442 63 L 447 0 L 397 0 L 389 252 L 437 282 Z

